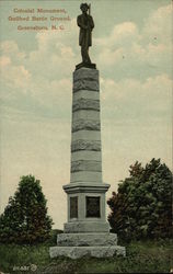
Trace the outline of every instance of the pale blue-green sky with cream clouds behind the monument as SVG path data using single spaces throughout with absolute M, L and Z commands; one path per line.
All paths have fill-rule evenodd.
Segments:
M 81 2 L 0 1 L 0 212 L 20 178 L 33 174 L 41 180 L 54 227 L 60 229 L 67 220 L 62 185 L 70 181 L 72 72 L 81 61 Z M 95 23 L 90 57 L 100 71 L 103 181 L 111 184 L 109 197 L 137 160 L 145 165 L 161 158 L 172 169 L 172 4 L 90 3 Z M 27 15 L 14 13 L 14 8 L 65 9 L 70 21 L 62 31 L 18 31 L 18 25 L 55 22 L 9 21 Z

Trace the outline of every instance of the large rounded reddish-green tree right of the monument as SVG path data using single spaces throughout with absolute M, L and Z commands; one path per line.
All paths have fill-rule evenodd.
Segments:
M 145 168 L 139 162 L 130 165 L 129 173 L 107 201 L 112 230 L 126 239 L 170 237 L 171 171 L 160 159 L 152 159 Z

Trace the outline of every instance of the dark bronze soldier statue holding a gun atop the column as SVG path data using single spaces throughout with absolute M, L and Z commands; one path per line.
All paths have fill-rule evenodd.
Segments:
M 77 19 L 77 24 L 80 27 L 79 45 L 81 46 L 82 64 L 90 65 L 89 47 L 92 45 L 92 30 L 94 28 L 94 21 L 90 15 L 90 5 L 81 3 L 80 9 L 82 14 Z M 89 14 L 88 14 L 89 10 Z

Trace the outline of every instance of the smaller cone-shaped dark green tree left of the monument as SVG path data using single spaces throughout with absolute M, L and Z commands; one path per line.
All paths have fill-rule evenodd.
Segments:
M 39 181 L 32 175 L 22 176 L 0 216 L 0 241 L 34 243 L 46 240 L 53 225 Z

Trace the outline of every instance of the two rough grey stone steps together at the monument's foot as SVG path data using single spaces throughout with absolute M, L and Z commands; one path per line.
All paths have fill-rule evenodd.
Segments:
M 106 258 L 126 255 L 124 247 L 117 246 L 115 233 L 60 233 L 57 236 L 57 247 L 49 249 L 50 258 L 68 256 L 79 259 L 84 255 Z

